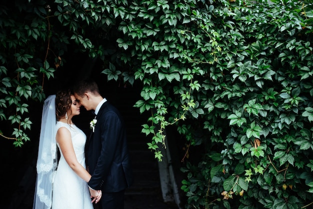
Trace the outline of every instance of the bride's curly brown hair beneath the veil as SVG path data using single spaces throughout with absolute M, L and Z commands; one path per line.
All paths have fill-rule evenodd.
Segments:
M 55 96 L 55 115 L 56 119 L 60 120 L 65 116 L 65 113 L 71 115 L 71 99 L 70 95 L 72 95 L 70 90 L 59 90 Z M 68 116 L 69 116 L 68 115 Z

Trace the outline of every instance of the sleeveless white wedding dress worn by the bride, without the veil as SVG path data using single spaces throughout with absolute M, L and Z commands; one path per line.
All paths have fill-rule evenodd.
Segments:
M 71 134 L 78 162 L 85 167 L 84 145 L 86 135 L 74 124 L 56 122 L 56 131 L 66 127 Z M 59 147 L 59 145 L 57 144 Z M 60 150 L 60 149 L 59 149 Z M 62 152 L 52 185 L 52 209 L 92 209 L 87 182 L 80 178 L 66 163 Z

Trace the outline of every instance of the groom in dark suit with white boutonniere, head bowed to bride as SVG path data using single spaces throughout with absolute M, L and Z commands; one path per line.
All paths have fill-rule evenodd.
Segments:
M 73 91 L 80 104 L 96 114 L 85 145 L 86 166 L 91 174 L 90 194 L 94 196 L 95 190 L 102 190 L 100 209 L 122 209 L 124 190 L 132 183 L 132 170 L 121 115 L 100 95 L 93 80 L 79 81 Z

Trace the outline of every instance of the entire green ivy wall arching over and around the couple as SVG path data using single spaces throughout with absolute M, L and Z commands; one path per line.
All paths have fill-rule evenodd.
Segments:
M 74 44 L 103 61 L 108 80 L 141 82 L 134 106 L 151 112 L 142 133 L 156 159 L 168 125 L 186 150 L 202 147 L 181 168 L 186 208 L 313 202 L 311 2 L 38 2 L 1 10 L 0 118 L 14 126 L 15 145 L 29 140 L 27 101 L 42 101 L 44 78 Z

